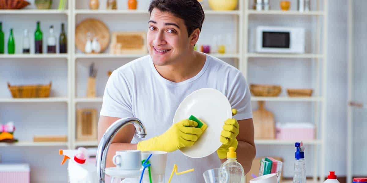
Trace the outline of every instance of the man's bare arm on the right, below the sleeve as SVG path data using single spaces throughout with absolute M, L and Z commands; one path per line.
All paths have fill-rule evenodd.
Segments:
M 237 135 L 237 161 L 242 165 L 246 175 L 250 171 L 252 160 L 254 160 L 256 155 L 254 123 L 252 118 L 239 120 L 238 123 L 240 125 L 240 133 Z M 226 159 L 221 159 L 221 161 L 224 163 Z

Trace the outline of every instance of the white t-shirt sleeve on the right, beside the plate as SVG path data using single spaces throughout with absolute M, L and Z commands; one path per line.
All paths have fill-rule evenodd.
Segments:
M 229 103 L 232 109 L 237 109 L 234 116 L 237 120 L 252 118 L 251 94 L 244 75 L 239 72 L 229 81 Z

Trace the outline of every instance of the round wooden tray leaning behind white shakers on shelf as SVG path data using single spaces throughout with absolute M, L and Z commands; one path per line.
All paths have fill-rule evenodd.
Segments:
M 78 49 L 85 53 L 85 46 L 87 42 L 87 33 L 91 33 L 91 40 L 97 37 L 97 41 L 101 45 L 101 51 L 105 51 L 110 43 L 110 32 L 108 27 L 97 19 L 86 19 L 79 23 L 75 29 L 75 45 Z

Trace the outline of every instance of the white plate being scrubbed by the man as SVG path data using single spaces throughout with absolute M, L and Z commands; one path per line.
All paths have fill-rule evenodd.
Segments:
M 191 158 L 202 158 L 214 153 L 221 145 L 220 135 L 224 121 L 232 118 L 232 108 L 227 97 L 212 88 L 202 88 L 189 94 L 178 106 L 173 124 L 190 115 L 208 125 L 203 135 L 192 147 L 183 147 L 180 151 Z

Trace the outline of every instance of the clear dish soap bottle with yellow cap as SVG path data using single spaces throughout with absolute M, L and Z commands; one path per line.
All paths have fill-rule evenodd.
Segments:
M 227 161 L 225 161 L 220 168 L 221 182 L 245 182 L 245 172 L 242 165 L 237 162 L 236 158 L 237 155 L 235 147 L 229 147 L 229 152 L 227 152 Z

